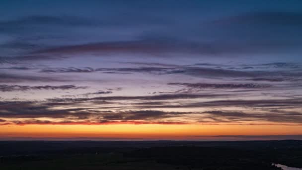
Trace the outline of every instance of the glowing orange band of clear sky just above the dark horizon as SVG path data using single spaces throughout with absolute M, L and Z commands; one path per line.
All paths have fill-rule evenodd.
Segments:
M 299 135 L 302 125 L 4 125 L 1 137 L 194 139 L 217 135 Z M 197 139 L 197 138 L 196 138 Z

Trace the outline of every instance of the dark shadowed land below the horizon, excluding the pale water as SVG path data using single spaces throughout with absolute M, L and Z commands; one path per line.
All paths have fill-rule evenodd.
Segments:
M 302 168 L 302 141 L 0 141 L 0 170 Z

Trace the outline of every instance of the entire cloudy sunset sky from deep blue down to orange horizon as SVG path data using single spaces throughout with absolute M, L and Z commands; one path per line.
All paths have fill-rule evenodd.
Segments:
M 302 139 L 301 0 L 1 0 L 0 140 Z

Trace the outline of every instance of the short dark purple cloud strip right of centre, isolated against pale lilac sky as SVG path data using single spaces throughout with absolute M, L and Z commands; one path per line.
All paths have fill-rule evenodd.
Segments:
M 167 85 L 183 85 L 190 88 L 266 88 L 271 85 L 259 84 L 205 84 L 205 83 L 168 83 Z

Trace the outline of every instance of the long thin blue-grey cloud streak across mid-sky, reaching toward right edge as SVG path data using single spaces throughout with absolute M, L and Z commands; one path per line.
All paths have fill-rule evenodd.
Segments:
M 90 73 L 102 72 L 111 74 L 123 73 L 150 73 L 155 75 L 167 74 L 183 74 L 196 77 L 248 77 L 248 78 L 262 78 L 264 76 L 300 76 L 299 72 L 281 72 L 281 71 L 236 71 L 221 68 L 205 68 L 205 67 L 134 67 L 134 68 L 45 68 L 41 73 Z

